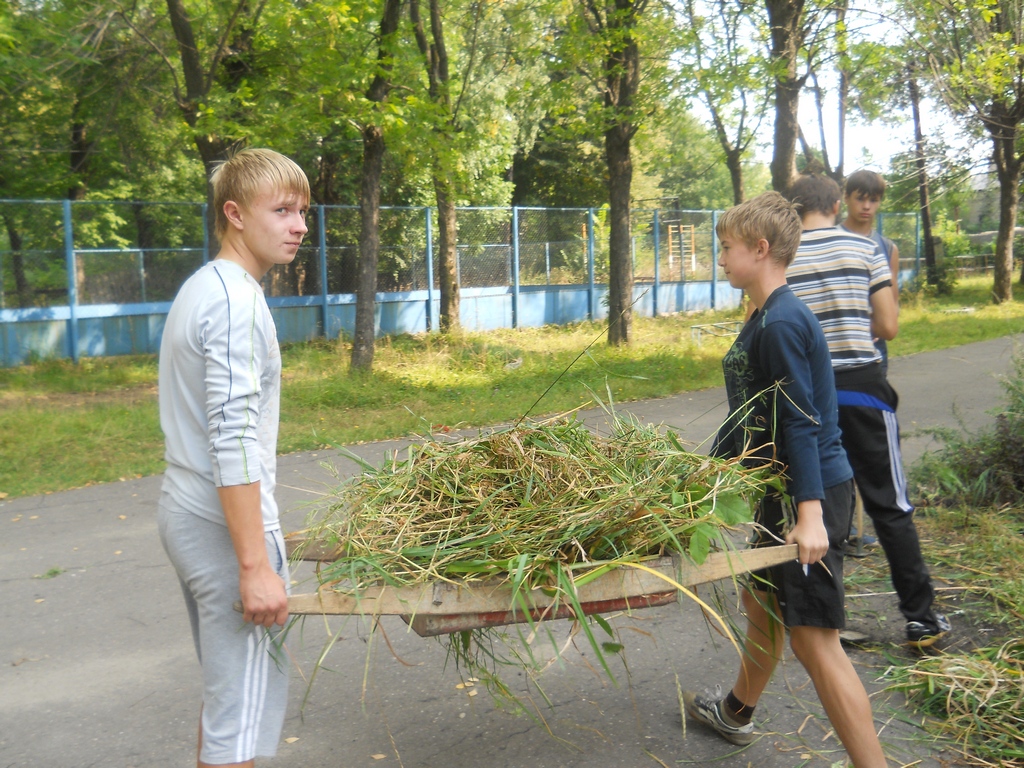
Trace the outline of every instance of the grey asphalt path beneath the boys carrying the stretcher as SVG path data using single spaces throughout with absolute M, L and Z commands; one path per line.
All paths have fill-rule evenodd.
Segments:
M 932 428 L 977 429 L 991 421 L 1002 397 L 999 377 L 1011 372 L 1022 341 L 1009 337 L 892 361 L 908 462 L 938 444 Z M 697 446 L 721 423 L 725 395 L 709 389 L 622 410 L 672 427 Z M 605 420 L 600 411 L 584 417 L 598 429 Z M 408 444 L 352 451 L 376 463 Z M 301 528 L 335 475 L 354 470 L 334 453 L 282 457 L 285 529 Z M 160 476 L 145 477 L 0 502 L 0 767 L 195 765 L 200 680 L 177 581 L 157 535 L 160 483 Z M 307 566 L 293 575 L 294 591 L 310 590 Z M 889 603 L 898 630 L 895 598 Z M 565 638 L 568 626 L 555 623 L 555 634 Z M 845 759 L 791 654 L 758 708 L 765 735 L 738 751 L 692 724 L 683 730 L 679 688 L 728 686 L 737 663 L 697 607 L 684 601 L 648 608 L 615 626 L 628 665 L 614 660 L 616 684 L 595 670 L 586 643 L 578 642 L 579 650 L 544 674 L 551 703 L 531 719 L 499 709 L 479 687 L 460 687 L 442 646 L 398 618 L 385 618 L 384 632 L 373 636 L 361 620 L 307 618 L 288 643 L 293 684 L 284 740 L 278 757 L 261 765 L 781 768 Z M 851 649 L 851 656 L 874 694 L 892 764 L 948 760 L 903 717 L 899 696 L 884 690 L 882 654 Z M 506 680 L 532 693 L 520 676 Z

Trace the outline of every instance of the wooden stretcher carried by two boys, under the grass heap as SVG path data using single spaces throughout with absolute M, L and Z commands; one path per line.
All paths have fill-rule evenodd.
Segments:
M 303 545 L 300 559 L 334 559 L 334 553 L 301 541 L 290 540 L 290 552 L 300 545 Z M 693 587 L 795 559 L 796 544 L 714 552 L 699 565 L 675 555 L 646 561 L 642 569 L 615 568 L 581 586 L 577 595 L 585 615 L 648 608 L 678 600 L 679 591 L 673 582 Z M 526 605 L 522 604 L 523 599 Z M 528 621 L 577 617 L 573 605 L 545 590 L 531 590 L 516 600 L 507 580 L 368 587 L 358 595 L 321 589 L 312 594 L 290 596 L 288 610 L 305 615 L 398 615 L 421 637 Z

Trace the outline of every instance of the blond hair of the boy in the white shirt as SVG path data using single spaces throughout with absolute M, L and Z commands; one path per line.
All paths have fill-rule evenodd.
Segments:
M 232 201 L 251 208 L 261 195 L 291 193 L 309 203 L 309 179 L 302 169 L 273 150 L 250 148 L 236 153 L 217 165 L 210 175 L 213 206 L 217 212 L 217 239 L 227 231 L 224 203 Z

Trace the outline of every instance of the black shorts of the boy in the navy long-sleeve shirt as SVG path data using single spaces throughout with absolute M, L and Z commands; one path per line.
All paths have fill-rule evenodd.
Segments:
M 797 560 L 752 573 L 751 587 L 778 597 L 780 618 L 786 627 L 823 627 L 841 630 L 846 626 L 846 591 L 843 588 L 843 543 L 853 520 L 853 480 L 825 488 L 821 503 L 822 520 L 828 534 L 828 552 L 820 562 L 807 567 Z M 796 518 L 796 507 L 783 505 L 777 494 L 766 496 L 758 508 L 757 521 L 767 528 L 759 531 L 755 547 L 778 544 L 771 534 L 782 538 L 786 520 Z

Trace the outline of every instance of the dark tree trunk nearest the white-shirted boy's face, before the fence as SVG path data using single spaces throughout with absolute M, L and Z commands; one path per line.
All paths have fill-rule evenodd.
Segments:
M 387 98 L 391 71 L 389 39 L 398 30 L 400 0 L 386 0 L 377 48 L 379 71 L 367 98 L 380 103 Z M 384 130 L 378 125 L 362 128 L 362 179 L 359 195 L 359 283 L 355 291 L 355 332 L 349 372 L 371 371 L 377 335 L 377 264 L 380 257 L 381 174 L 384 168 Z M 324 275 L 325 279 L 327 275 Z

